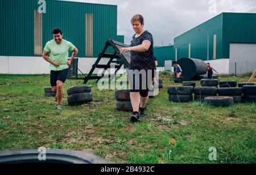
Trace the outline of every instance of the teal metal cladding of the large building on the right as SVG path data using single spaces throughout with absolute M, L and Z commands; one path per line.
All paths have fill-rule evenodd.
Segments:
M 209 60 L 230 58 L 230 44 L 256 43 L 256 14 L 224 12 L 175 37 L 177 59 L 207 60 L 207 33 L 202 29 L 209 35 Z

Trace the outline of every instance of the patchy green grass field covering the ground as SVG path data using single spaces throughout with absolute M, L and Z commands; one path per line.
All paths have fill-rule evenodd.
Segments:
M 164 89 L 148 101 L 147 117 L 130 123 L 130 112 L 115 109 L 114 91 L 98 90 L 95 81 L 89 82 L 93 103 L 68 106 L 67 88 L 82 80 L 67 80 L 59 112 L 55 99 L 43 95 L 49 75 L 0 75 L 0 150 L 81 150 L 112 163 L 256 162 L 255 103 L 228 108 L 171 103 L 167 87 L 174 85 L 172 75 L 162 72 L 160 78 Z M 208 159 L 210 147 L 217 148 L 217 161 Z

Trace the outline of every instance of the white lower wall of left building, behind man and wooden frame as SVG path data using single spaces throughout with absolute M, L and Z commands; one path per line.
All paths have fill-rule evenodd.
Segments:
M 97 58 L 79 58 L 79 69 L 88 74 Z M 101 59 L 100 64 L 107 63 L 108 58 Z M 97 74 L 101 69 L 96 69 Z M 110 70 L 109 70 L 110 71 Z M 0 56 L 0 74 L 49 74 L 49 63 L 42 57 Z M 123 72 L 123 67 L 119 73 Z M 78 71 L 80 74 L 80 72 Z

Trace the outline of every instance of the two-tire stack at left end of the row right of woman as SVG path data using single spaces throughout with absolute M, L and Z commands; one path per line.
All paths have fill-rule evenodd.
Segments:
M 178 103 L 189 102 L 193 100 L 193 86 L 168 87 L 169 101 Z

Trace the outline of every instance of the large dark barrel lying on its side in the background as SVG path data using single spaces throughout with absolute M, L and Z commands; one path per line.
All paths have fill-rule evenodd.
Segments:
M 177 61 L 182 69 L 182 75 L 184 80 L 192 80 L 199 75 L 206 74 L 206 63 L 201 59 L 194 58 L 181 58 Z

